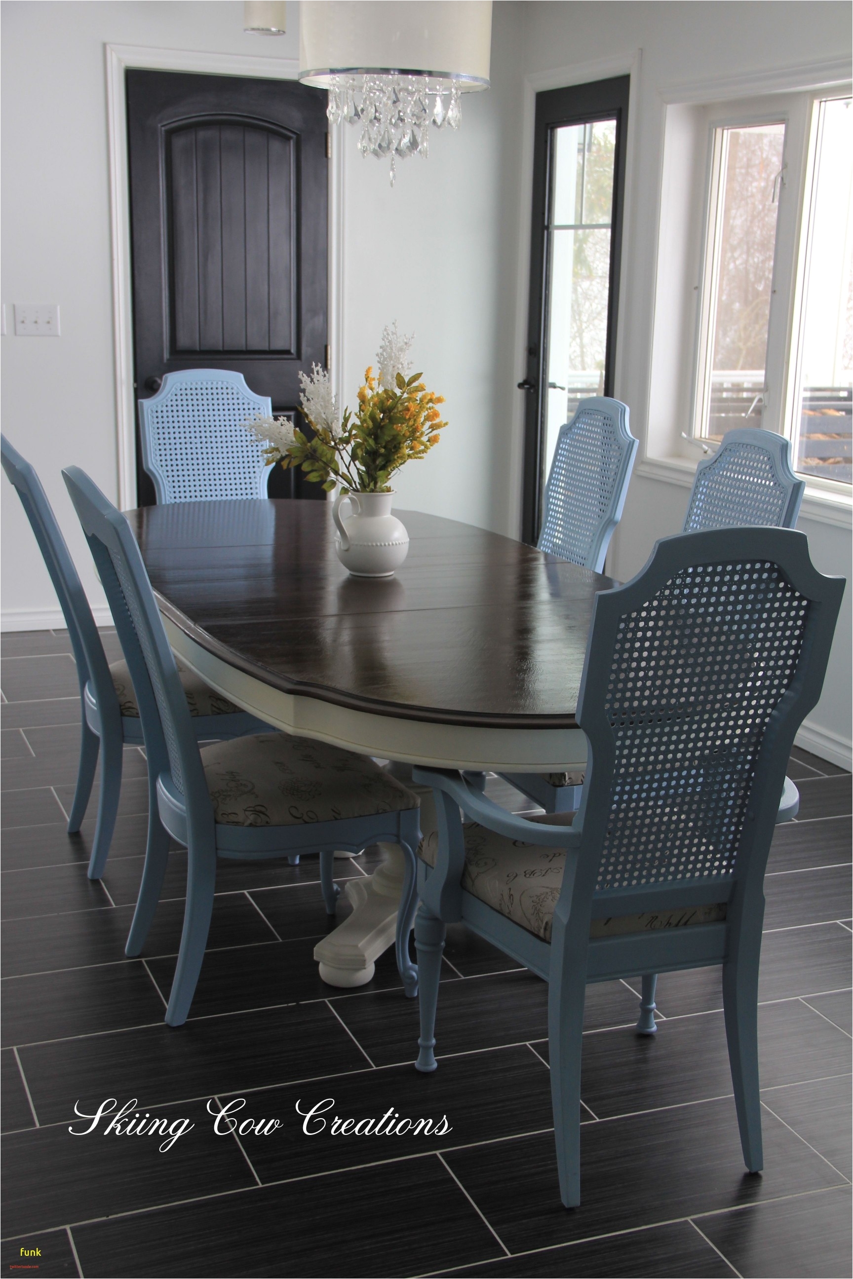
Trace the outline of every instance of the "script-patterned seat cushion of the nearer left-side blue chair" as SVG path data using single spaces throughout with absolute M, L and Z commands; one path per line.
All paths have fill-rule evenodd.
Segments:
M 201 757 L 214 815 L 224 826 L 298 826 L 421 803 L 367 756 L 286 733 L 216 742 Z

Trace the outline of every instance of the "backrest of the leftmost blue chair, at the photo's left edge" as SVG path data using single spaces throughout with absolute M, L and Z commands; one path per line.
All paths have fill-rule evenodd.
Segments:
M 33 467 L 5 436 L 0 436 L 3 469 L 15 486 L 27 519 L 36 535 L 59 605 L 65 618 L 68 636 L 77 663 L 81 696 L 91 679 L 98 711 L 119 714 L 119 702 L 110 677 L 101 637 L 92 616 L 83 583 L 63 537 L 52 506 Z

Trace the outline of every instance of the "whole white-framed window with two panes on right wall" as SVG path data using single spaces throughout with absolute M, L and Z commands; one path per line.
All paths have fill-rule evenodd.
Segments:
M 818 486 L 849 485 L 850 98 L 792 95 L 763 119 L 710 116 L 693 436 L 763 426 L 790 439 Z

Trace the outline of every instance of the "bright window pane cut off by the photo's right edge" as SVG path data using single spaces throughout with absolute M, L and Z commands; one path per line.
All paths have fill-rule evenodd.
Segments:
M 821 102 L 794 423 L 797 469 L 850 483 L 853 107 Z

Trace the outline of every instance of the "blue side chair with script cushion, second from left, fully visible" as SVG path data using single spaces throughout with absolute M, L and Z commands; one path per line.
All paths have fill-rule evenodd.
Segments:
M 130 526 L 79 467 L 63 471 L 95 558 L 138 693 L 156 812 L 127 954 L 138 955 L 157 907 L 169 836 L 188 849 L 187 906 L 166 1022 L 189 1013 L 210 927 L 217 857 L 239 861 L 320 853 L 326 911 L 335 911 L 335 849 L 399 844 L 405 879 L 396 962 L 408 995 L 417 968 L 414 917 L 418 798 L 364 756 L 286 733 L 219 742 L 201 752 L 148 576 Z M 159 815 L 159 821 L 156 820 Z

